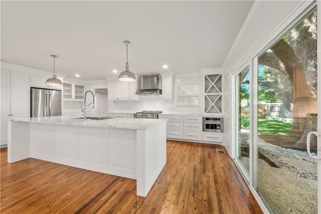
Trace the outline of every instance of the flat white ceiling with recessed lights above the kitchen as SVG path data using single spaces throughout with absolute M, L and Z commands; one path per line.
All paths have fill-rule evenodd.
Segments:
M 1 1 L 1 61 L 81 80 L 221 67 L 253 1 Z M 168 64 L 169 68 L 163 69 Z

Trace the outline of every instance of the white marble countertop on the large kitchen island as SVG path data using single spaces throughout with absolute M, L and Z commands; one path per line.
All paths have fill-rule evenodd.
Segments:
M 11 118 L 11 121 L 29 122 L 29 123 L 45 123 L 70 126 L 88 126 L 100 128 L 115 128 L 115 129 L 134 129 L 147 130 L 161 123 L 166 123 L 165 119 L 136 119 L 136 118 L 111 118 L 105 120 L 83 120 L 64 116 L 54 117 L 39 117 L 39 118 Z

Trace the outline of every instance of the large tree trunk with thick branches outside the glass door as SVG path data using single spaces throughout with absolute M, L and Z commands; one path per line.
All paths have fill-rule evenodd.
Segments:
M 279 98 L 289 108 L 292 105 L 292 129 L 286 136 L 260 135 L 266 142 L 285 148 L 306 150 L 306 136 L 317 129 L 317 71 L 316 71 L 316 11 L 288 32 L 286 38 L 275 43 L 259 57 L 259 64 L 268 66 L 269 72 L 277 71 L 288 78 L 292 90 L 288 94 L 276 88 L 277 82 L 269 82 Z M 275 75 L 274 75 L 275 76 Z M 281 78 L 277 78 L 283 84 Z M 287 83 L 286 83 L 287 84 Z M 284 89 L 284 88 L 283 88 Z M 278 91 L 278 92 L 277 92 Z M 292 101 L 289 97 L 293 97 Z M 316 150 L 316 137 L 311 137 L 311 150 Z

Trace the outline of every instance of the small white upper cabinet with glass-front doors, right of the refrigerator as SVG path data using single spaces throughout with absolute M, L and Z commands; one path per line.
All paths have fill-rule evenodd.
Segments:
M 85 86 L 64 82 L 63 99 L 72 101 L 84 101 Z

